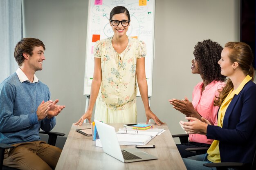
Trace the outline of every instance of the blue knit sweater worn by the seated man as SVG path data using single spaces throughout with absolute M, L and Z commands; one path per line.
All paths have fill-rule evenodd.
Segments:
M 16 73 L 5 79 L 0 84 L 0 143 L 38 141 L 40 128 L 52 130 L 55 117 L 38 121 L 36 115 L 40 103 L 49 98 L 49 88 L 42 82 L 20 83 Z

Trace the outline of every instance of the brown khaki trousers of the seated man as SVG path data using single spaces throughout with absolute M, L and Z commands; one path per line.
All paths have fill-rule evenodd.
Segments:
M 4 166 L 20 170 L 53 170 L 61 155 L 61 149 L 45 141 L 13 144 L 15 148 L 4 152 Z

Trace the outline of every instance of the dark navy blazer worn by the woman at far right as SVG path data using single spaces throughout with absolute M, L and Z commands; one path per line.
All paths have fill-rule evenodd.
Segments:
M 223 127 L 208 125 L 207 138 L 220 141 L 221 162 L 252 163 L 256 149 L 256 84 L 249 81 L 234 95 Z

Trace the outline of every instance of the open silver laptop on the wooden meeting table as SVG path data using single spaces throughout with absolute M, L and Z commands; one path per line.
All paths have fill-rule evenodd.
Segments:
M 149 155 L 137 148 L 121 150 L 115 128 L 95 119 L 94 122 L 99 133 L 99 138 L 101 139 L 101 145 L 106 154 L 124 163 L 157 159 L 157 157 Z

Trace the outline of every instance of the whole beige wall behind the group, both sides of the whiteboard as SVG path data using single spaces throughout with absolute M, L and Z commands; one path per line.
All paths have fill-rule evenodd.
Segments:
M 191 74 L 193 48 L 210 38 L 222 46 L 239 40 L 239 0 L 156 0 L 155 60 L 150 106 L 172 134 L 183 133 L 178 122 L 184 115 L 168 99 L 192 98 L 199 75 Z M 55 131 L 68 134 L 85 110 L 83 77 L 88 1 L 23 0 L 24 36 L 45 43 L 46 60 L 38 78 L 47 84 L 52 99 L 66 108 L 58 115 Z M 146 121 L 141 98 L 138 121 Z

